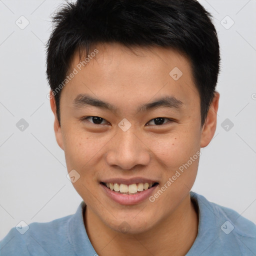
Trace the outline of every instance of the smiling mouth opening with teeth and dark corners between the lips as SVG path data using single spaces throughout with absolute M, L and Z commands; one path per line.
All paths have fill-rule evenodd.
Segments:
M 158 182 L 145 182 L 145 183 L 131 183 L 131 184 L 123 184 L 123 183 L 110 183 L 110 182 L 100 182 L 109 190 L 112 190 L 119 194 L 139 194 L 145 190 L 148 190 L 156 185 Z

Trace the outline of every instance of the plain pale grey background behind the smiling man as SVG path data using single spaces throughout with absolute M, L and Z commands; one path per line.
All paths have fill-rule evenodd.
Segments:
M 0 238 L 21 220 L 72 214 L 81 201 L 66 177 L 46 98 L 44 44 L 61 2 L 0 0 Z M 199 2 L 214 16 L 222 60 L 217 129 L 201 149 L 192 190 L 256 222 L 256 0 Z

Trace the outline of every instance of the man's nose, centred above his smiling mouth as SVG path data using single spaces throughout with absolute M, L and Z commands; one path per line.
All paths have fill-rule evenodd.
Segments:
M 150 150 L 146 142 L 131 128 L 127 131 L 118 130 L 108 144 L 106 162 L 109 166 L 129 170 L 136 165 L 147 165 L 149 161 Z

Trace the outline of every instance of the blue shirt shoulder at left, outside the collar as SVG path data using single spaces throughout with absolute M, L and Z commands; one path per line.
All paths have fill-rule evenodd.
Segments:
M 1 256 L 49 255 L 50 250 L 68 250 L 68 221 L 71 216 L 44 223 L 33 222 L 20 229 L 11 228 L 0 241 Z

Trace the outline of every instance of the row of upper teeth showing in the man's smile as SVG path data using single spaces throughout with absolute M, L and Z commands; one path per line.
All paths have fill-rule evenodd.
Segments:
M 106 186 L 115 192 L 134 194 L 138 191 L 143 191 L 150 188 L 153 183 L 133 183 L 130 185 L 119 183 L 106 183 Z

